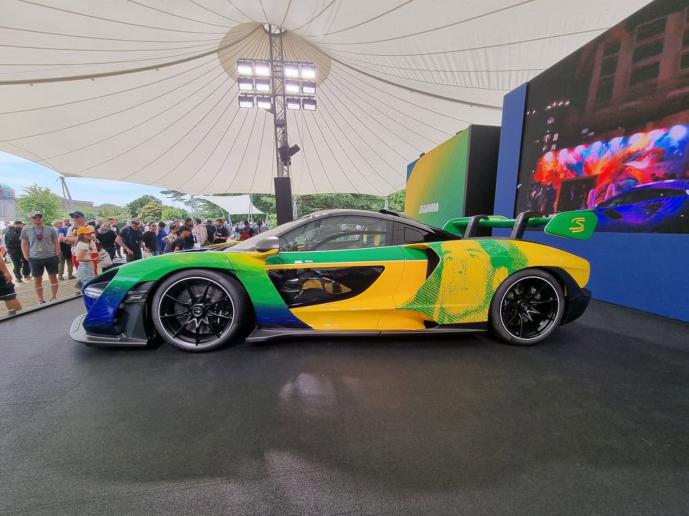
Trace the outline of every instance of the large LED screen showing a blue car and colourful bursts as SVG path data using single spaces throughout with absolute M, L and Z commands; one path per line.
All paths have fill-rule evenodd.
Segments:
M 689 233 L 689 6 L 657 0 L 528 84 L 515 213 Z

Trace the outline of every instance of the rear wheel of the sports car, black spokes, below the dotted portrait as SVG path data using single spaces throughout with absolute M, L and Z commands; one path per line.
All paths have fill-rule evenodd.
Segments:
M 565 296 L 555 276 L 542 269 L 523 269 L 495 291 L 488 324 L 499 340 L 532 346 L 555 331 L 564 311 Z

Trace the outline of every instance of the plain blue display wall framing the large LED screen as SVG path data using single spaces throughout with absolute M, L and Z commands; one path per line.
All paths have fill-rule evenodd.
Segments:
M 515 211 L 527 87 L 504 99 L 495 214 Z M 528 231 L 524 238 L 589 260 L 595 299 L 689 322 L 689 234 L 597 233 L 581 241 Z

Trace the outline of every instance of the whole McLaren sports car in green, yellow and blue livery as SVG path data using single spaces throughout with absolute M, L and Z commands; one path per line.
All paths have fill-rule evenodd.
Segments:
M 71 336 L 92 346 L 185 351 L 288 336 L 489 331 L 535 344 L 588 305 L 583 258 L 522 240 L 529 227 L 588 238 L 591 211 L 431 227 L 395 211 L 329 210 L 229 248 L 111 269 L 83 286 Z M 511 227 L 512 236 L 481 236 Z

